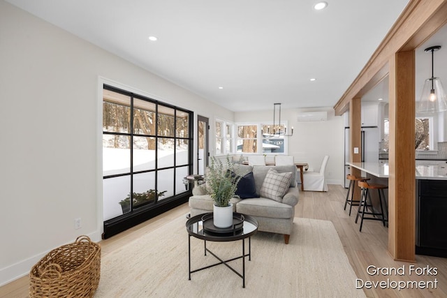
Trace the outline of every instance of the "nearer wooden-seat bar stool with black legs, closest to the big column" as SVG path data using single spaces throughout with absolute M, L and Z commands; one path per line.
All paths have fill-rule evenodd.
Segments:
M 388 219 L 385 218 L 385 213 L 383 212 L 382 199 L 383 202 L 385 202 L 385 193 L 383 193 L 383 190 L 388 188 L 388 186 L 386 186 L 385 184 L 368 184 L 367 181 L 358 181 L 358 186 L 362 188 L 362 195 L 360 195 L 360 204 L 358 206 L 356 216 L 356 223 L 358 220 L 358 216 L 362 218 L 362 220 L 360 221 L 360 232 L 362 232 L 362 225 L 364 219 L 371 219 L 373 221 L 382 221 L 383 226 L 385 226 L 385 222 L 388 221 Z M 381 211 L 380 213 L 374 212 L 374 209 L 372 207 L 371 195 L 369 195 L 369 189 L 376 189 L 379 193 L 379 202 Z M 370 212 L 367 211 L 368 208 L 371 209 Z M 371 217 L 365 217 L 365 214 L 371 215 Z M 381 216 L 381 217 L 378 218 L 375 216 Z

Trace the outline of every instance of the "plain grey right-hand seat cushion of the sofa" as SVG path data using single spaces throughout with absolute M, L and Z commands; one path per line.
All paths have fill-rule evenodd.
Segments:
M 253 198 L 238 202 L 236 212 L 268 218 L 291 218 L 293 216 L 293 208 L 288 204 L 282 204 L 267 198 Z

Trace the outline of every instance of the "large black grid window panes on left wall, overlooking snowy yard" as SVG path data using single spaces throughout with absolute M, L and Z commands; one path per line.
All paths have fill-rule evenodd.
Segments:
M 104 221 L 189 191 L 191 119 L 191 111 L 104 85 Z

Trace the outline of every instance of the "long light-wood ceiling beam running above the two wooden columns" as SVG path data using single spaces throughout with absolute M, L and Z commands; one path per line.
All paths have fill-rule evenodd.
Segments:
M 411 0 L 356 80 L 334 105 L 335 115 L 342 115 L 352 98 L 361 97 L 380 82 L 391 56 L 402 49 L 414 50 L 446 22 L 447 0 Z

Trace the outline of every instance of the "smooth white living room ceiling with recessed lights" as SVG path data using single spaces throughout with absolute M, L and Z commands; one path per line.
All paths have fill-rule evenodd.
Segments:
M 233 111 L 335 105 L 409 2 L 6 1 Z

